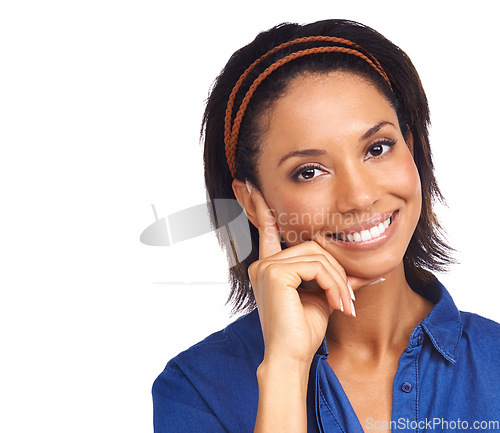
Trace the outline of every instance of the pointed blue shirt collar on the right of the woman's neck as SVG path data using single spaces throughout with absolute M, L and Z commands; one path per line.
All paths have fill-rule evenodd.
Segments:
M 433 302 L 434 308 L 413 330 L 410 344 L 417 340 L 417 335 L 424 329 L 436 350 L 448 361 L 455 363 L 455 353 L 462 336 L 462 321 L 448 290 L 436 279 L 425 286 L 412 288 L 419 295 Z M 326 338 L 316 352 L 328 357 Z

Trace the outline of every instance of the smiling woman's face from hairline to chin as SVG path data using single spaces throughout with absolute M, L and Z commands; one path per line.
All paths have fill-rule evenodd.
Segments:
M 257 176 L 286 244 L 313 239 L 359 277 L 401 266 L 421 188 L 387 99 L 352 73 L 306 74 L 268 116 Z

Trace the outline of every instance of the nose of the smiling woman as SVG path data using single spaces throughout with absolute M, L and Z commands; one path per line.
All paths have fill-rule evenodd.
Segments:
M 333 197 L 339 213 L 367 211 L 380 194 L 377 179 L 365 167 L 344 166 L 336 173 Z

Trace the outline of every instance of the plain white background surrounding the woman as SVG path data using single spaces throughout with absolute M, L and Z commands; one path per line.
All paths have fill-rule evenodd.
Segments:
M 155 377 L 232 320 L 213 235 L 139 235 L 152 203 L 162 217 L 205 200 L 208 89 L 283 21 L 361 21 L 412 58 L 461 261 L 441 279 L 459 308 L 500 320 L 495 3 L 291 3 L 3 2 L 2 432 L 152 432 Z M 168 281 L 214 284 L 156 284 Z

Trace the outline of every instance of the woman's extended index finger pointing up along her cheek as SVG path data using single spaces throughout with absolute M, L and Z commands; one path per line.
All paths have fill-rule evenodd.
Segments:
M 259 229 L 259 259 L 272 256 L 282 251 L 281 238 L 274 215 L 260 191 L 247 183 L 250 197 L 255 205 Z

